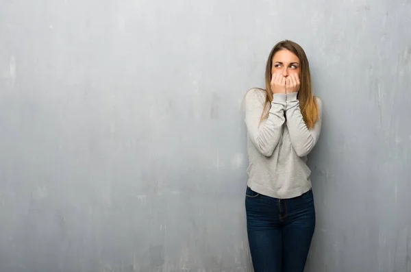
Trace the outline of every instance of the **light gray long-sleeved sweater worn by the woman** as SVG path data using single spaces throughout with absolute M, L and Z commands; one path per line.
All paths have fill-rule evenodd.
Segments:
M 258 88 L 245 95 L 247 185 L 270 197 L 298 197 L 311 188 L 311 171 L 306 162 L 321 131 L 322 102 L 316 97 L 319 121 L 308 129 L 301 115 L 297 92 L 275 94 L 268 118 L 260 123 L 265 98 L 265 91 Z

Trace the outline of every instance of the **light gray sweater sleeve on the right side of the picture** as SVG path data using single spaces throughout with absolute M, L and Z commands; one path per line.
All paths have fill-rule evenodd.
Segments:
M 307 156 L 316 145 L 320 136 L 323 104 L 318 97 L 316 97 L 316 104 L 319 109 L 319 119 L 314 124 L 314 127 L 308 129 L 301 114 L 297 92 L 287 94 L 286 124 L 290 134 L 292 148 L 299 157 Z

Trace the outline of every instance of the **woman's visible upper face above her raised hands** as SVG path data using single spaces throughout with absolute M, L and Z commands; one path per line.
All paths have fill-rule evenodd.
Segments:
M 284 77 L 297 73 L 300 75 L 300 62 L 297 55 L 282 49 L 277 51 L 273 56 L 273 66 L 271 66 L 271 75 L 274 73 L 282 74 Z

